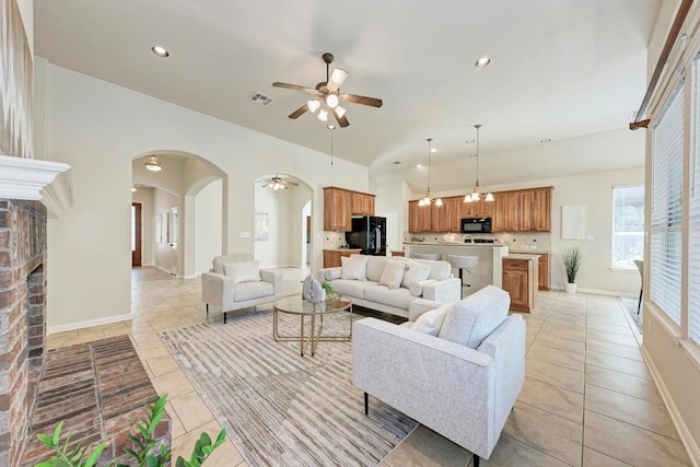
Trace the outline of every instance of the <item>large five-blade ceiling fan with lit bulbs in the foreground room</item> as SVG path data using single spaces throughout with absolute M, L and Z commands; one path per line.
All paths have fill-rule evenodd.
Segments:
M 307 110 L 314 114 L 318 112 L 317 118 L 320 121 L 328 121 L 328 114 L 332 114 L 341 128 L 350 125 L 346 117 L 346 108 L 340 106 L 340 101 L 351 102 L 353 104 L 369 105 L 371 107 L 382 107 L 382 100 L 375 97 L 366 97 L 357 94 L 345 94 L 340 92 L 340 85 L 348 78 L 348 72 L 341 68 L 336 68 L 330 73 L 330 63 L 332 62 L 332 54 L 324 54 L 323 59 L 326 62 L 326 81 L 316 84 L 316 87 L 300 86 L 298 84 L 272 83 L 276 87 L 285 87 L 288 90 L 302 91 L 313 94 L 316 98 L 312 98 L 306 104 L 299 107 L 289 115 L 289 118 L 295 119 L 304 115 Z

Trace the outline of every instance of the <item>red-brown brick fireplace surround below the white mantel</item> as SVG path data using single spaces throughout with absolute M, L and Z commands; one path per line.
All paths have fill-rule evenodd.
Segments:
M 0 465 L 18 465 L 46 342 L 46 208 L 0 199 Z

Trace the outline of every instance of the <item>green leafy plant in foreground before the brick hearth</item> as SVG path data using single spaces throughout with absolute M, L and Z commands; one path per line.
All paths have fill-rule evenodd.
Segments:
M 162 467 L 171 462 L 171 448 L 163 444 L 156 448 L 156 440 L 153 439 L 155 428 L 165 417 L 165 402 L 167 402 L 167 394 L 163 394 L 153 404 L 147 404 L 143 409 L 145 417 L 136 422 L 135 427 L 138 434 L 130 435 L 129 441 L 133 444 L 133 450 L 125 448 L 125 453 L 133 458 L 133 466 L 138 467 Z M 105 443 L 101 443 L 90 454 L 88 446 L 78 444 L 68 453 L 68 444 L 72 432 L 61 442 L 60 435 L 63 429 L 63 422 L 59 422 L 51 436 L 47 434 L 37 434 L 36 437 L 44 443 L 45 446 L 54 450 L 54 455 L 49 460 L 35 464 L 34 467 L 93 467 L 97 464 L 100 456 L 105 447 Z M 226 430 L 221 430 L 217 440 L 212 443 L 211 437 L 207 433 L 201 433 L 199 440 L 195 443 L 195 448 L 189 460 L 185 460 L 182 456 L 177 457 L 175 465 L 177 467 L 199 467 L 203 462 L 226 440 Z M 107 464 L 113 466 L 113 463 Z M 130 467 L 127 464 L 118 464 L 117 467 Z

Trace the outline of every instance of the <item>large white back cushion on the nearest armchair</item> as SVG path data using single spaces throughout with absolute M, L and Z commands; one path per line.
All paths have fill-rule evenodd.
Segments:
M 457 302 L 445 316 L 439 337 L 477 349 L 508 318 L 510 305 L 508 292 L 487 285 Z

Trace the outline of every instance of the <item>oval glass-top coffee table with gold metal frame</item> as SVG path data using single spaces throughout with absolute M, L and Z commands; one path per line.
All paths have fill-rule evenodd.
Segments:
M 343 310 L 350 311 L 350 326 L 347 336 L 322 336 L 324 329 L 324 315 L 340 313 Z M 301 326 L 299 336 L 281 336 L 278 330 L 278 313 L 287 313 L 300 317 Z M 304 331 L 306 317 L 311 317 L 310 331 Z M 318 320 L 316 317 L 318 316 Z M 334 299 L 326 299 L 323 303 L 308 303 L 302 295 L 283 296 L 277 300 L 272 306 L 272 337 L 277 341 L 299 341 L 299 350 L 302 357 L 311 347 L 312 357 L 316 353 L 318 342 L 348 341 L 352 339 L 352 301 L 337 295 Z

